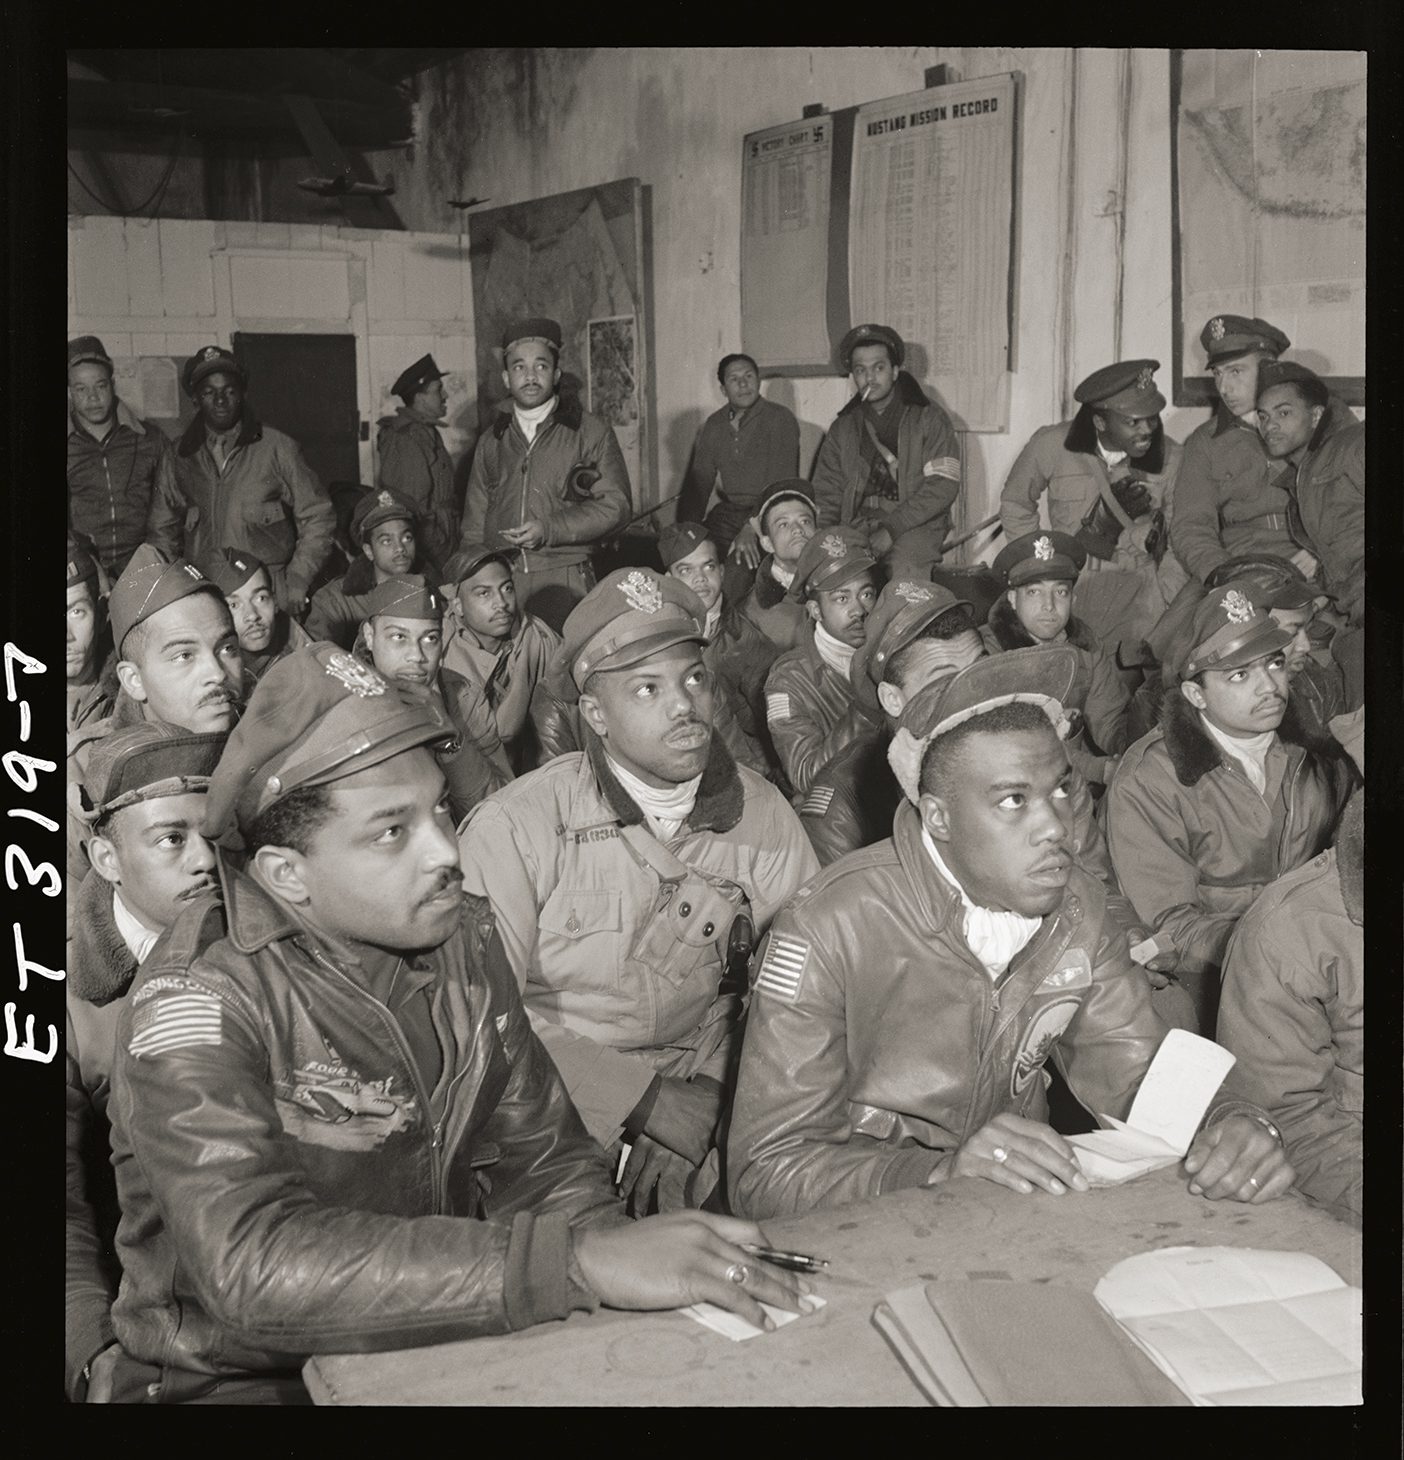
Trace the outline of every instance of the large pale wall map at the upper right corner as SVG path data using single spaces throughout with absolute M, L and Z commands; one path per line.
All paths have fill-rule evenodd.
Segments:
M 1365 53 L 1184 51 L 1178 67 L 1176 403 L 1206 399 L 1216 314 L 1270 320 L 1292 359 L 1359 390 Z

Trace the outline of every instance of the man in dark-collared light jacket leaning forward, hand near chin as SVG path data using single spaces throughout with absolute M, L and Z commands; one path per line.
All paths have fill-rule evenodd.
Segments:
M 1035 431 L 1010 467 L 1000 495 L 1008 542 L 1039 529 L 1048 492 L 1048 526 L 1087 552 L 1074 609 L 1115 653 L 1143 639 L 1185 581 L 1166 552 L 1179 445 L 1160 426 L 1165 397 L 1159 361 L 1118 361 L 1093 371 L 1073 391 L 1071 420 Z

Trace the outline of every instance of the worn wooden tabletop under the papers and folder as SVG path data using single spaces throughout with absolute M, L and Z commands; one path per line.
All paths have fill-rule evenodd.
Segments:
M 883 1294 L 936 1279 L 1008 1278 L 1090 1291 L 1157 1247 L 1306 1251 L 1360 1282 L 1360 1235 L 1296 1194 L 1206 1202 L 1176 1169 L 1062 1197 L 990 1181 L 895 1191 L 766 1222 L 778 1247 L 832 1261 L 828 1307 L 734 1343 L 677 1313 L 578 1313 L 502 1337 L 312 1358 L 320 1405 L 925 1405 L 873 1327 Z

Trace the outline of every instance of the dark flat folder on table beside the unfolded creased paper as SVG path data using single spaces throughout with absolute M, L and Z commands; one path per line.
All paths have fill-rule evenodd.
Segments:
M 1187 1403 L 1076 1288 L 915 1283 L 887 1294 L 873 1323 L 943 1407 Z

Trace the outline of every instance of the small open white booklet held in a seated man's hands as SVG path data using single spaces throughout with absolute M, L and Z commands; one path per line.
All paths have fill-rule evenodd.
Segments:
M 1119 1186 L 1170 1167 L 1189 1149 L 1233 1056 L 1213 1040 L 1170 1029 L 1141 1080 L 1128 1117 L 1098 1115 L 1109 1130 L 1068 1136 L 1092 1186 Z

